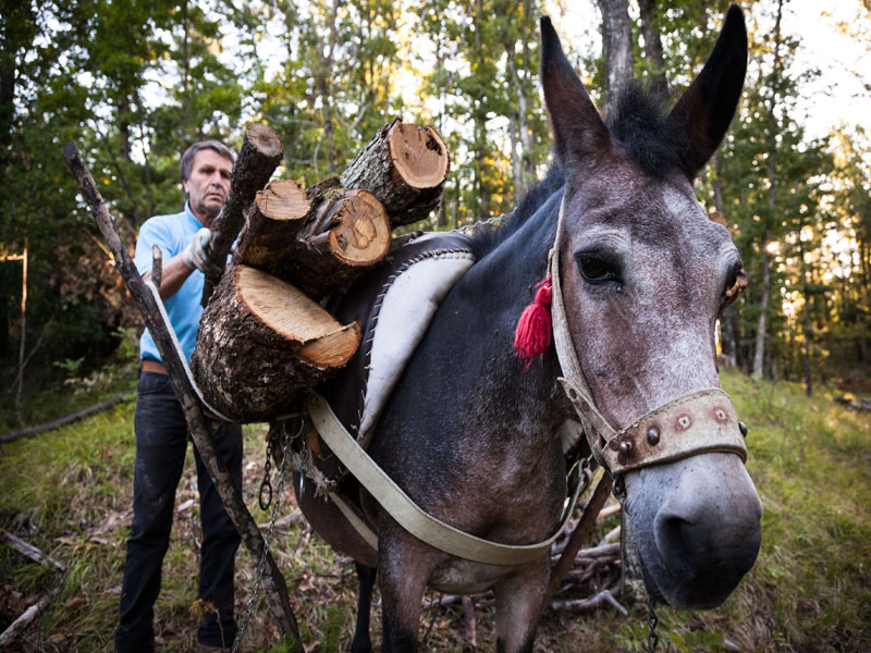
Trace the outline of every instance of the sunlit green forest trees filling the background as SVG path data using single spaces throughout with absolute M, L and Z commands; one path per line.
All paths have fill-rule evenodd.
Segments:
M 871 141 L 859 122 L 825 115 L 821 126 L 808 107 L 854 101 L 858 88 L 867 109 L 871 69 L 864 56 L 834 64 L 834 75 L 832 62 L 802 50 L 808 27 L 788 26 L 825 25 L 833 44 L 867 54 L 871 7 L 838 3 L 834 15 L 795 4 L 744 2 L 743 101 L 697 184 L 750 280 L 722 316 L 722 361 L 757 378 L 802 380 L 809 393 L 830 380 L 868 391 Z M 50 387 L 59 366 L 87 374 L 111 364 L 138 328 L 65 170 L 64 143 L 85 152 L 132 246 L 148 217 L 179 210 L 179 157 L 196 139 L 237 147 L 247 124 L 265 122 L 285 144 L 280 176 L 306 184 L 341 171 L 403 115 L 447 143 L 451 177 L 425 226 L 455 229 L 510 211 L 550 164 L 539 15 L 554 16 L 605 109 L 618 85 L 606 75 L 609 48 L 624 76 L 676 97 L 727 5 L 2 0 L 0 360 L 15 380 L 7 398 L 17 406 L 22 387 L 25 396 Z M 845 77 L 852 90 L 839 86 Z

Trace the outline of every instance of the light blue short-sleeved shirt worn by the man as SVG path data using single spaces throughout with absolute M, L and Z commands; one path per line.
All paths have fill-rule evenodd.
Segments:
M 163 260 L 168 261 L 193 239 L 194 235 L 203 229 L 199 220 L 191 211 L 187 202 L 184 211 L 172 213 L 171 215 L 156 215 L 149 218 L 139 229 L 139 237 L 136 241 L 136 270 L 139 274 L 145 274 L 151 269 L 152 254 L 151 246 L 157 245 L 163 255 Z M 185 358 L 191 361 L 194 346 L 197 344 L 197 331 L 199 330 L 199 318 L 203 316 L 203 307 L 199 305 L 203 298 L 203 286 L 206 275 L 199 270 L 188 276 L 169 299 L 163 300 L 167 315 L 170 318 L 175 335 L 182 345 Z M 155 338 L 146 329 L 139 338 L 139 357 L 156 358 L 160 360 L 160 354 L 155 345 Z

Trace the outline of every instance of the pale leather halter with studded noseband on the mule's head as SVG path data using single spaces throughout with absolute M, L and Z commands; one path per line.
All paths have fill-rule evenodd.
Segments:
M 560 205 L 556 236 L 548 255 L 552 278 L 553 341 L 564 377 L 559 381 L 575 407 L 590 451 L 612 477 L 709 452 L 727 452 L 747 461 L 738 415 L 729 396 L 719 387 L 694 391 L 666 402 L 617 430 L 599 411 L 584 378 L 568 330 L 560 276 L 565 196 Z

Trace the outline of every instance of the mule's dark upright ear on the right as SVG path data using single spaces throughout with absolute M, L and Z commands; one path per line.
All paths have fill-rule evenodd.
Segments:
M 708 62 L 668 115 L 668 121 L 687 135 L 680 159 L 690 180 L 723 140 L 735 115 L 746 72 L 747 28 L 741 10 L 733 4 Z

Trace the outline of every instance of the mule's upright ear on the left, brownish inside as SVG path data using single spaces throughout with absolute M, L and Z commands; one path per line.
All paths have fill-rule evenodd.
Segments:
M 610 135 L 599 111 L 563 53 L 560 37 L 548 16 L 541 26 L 541 86 L 553 131 L 553 153 L 560 167 L 608 147 Z

